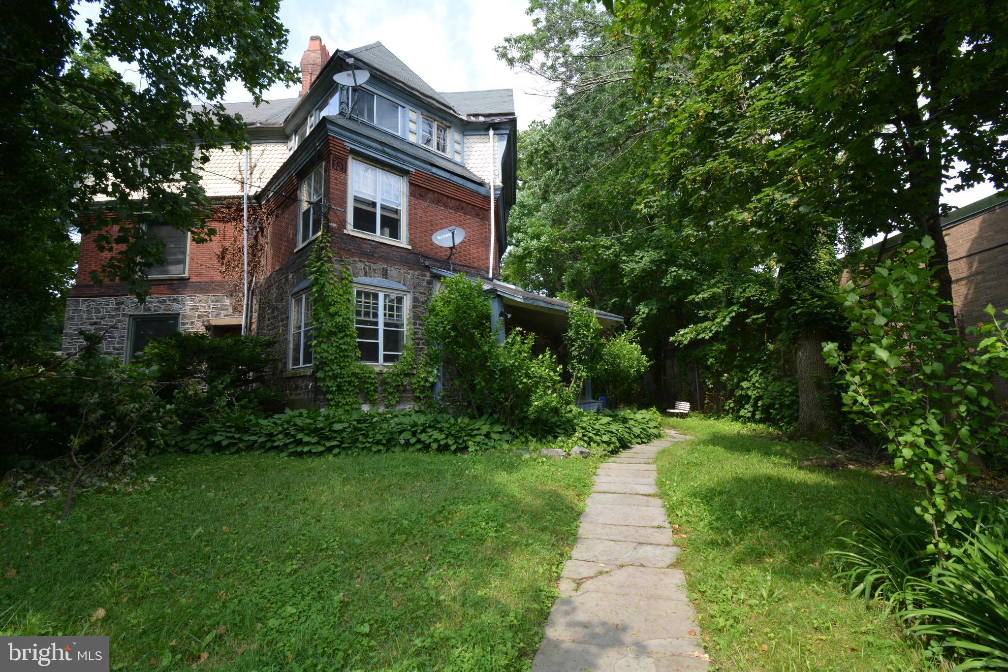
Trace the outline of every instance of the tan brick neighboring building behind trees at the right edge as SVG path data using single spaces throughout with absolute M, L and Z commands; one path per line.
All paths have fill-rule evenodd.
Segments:
M 981 198 L 941 219 L 949 249 L 956 321 L 966 327 L 989 322 L 984 313 L 993 304 L 1001 314 L 1008 310 L 1008 191 Z M 899 247 L 902 235 L 891 236 L 869 247 L 885 256 Z

